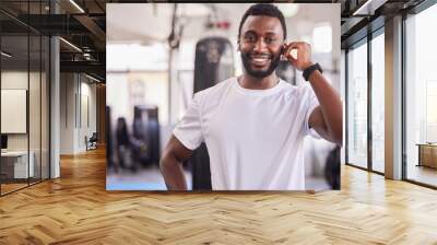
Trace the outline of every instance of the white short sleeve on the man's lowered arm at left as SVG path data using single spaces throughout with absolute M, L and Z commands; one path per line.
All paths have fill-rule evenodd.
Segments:
M 173 135 L 190 150 L 196 150 L 203 142 L 200 115 L 200 94 L 197 93 L 182 119 L 173 130 Z

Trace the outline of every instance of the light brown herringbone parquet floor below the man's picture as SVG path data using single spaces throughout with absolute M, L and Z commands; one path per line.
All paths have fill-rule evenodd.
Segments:
M 108 192 L 102 150 L 0 198 L 0 244 L 437 244 L 437 191 L 344 166 L 342 190 Z

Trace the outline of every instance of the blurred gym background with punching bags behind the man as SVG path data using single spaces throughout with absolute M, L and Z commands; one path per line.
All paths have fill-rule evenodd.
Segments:
M 241 74 L 237 34 L 250 5 L 106 5 L 108 190 L 166 189 L 158 161 L 193 93 Z M 344 91 L 340 82 L 340 3 L 276 5 L 286 20 L 286 40 L 311 44 L 312 59 L 339 93 Z M 291 84 L 305 83 L 302 73 L 286 62 L 280 63 L 276 73 Z M 306 188 L 339 189 L 340 150 L 311 137 L 306 138 L 304 148 Z M 198 149 L 184 163 L 190 189 L 211 188 L 205 152 Z

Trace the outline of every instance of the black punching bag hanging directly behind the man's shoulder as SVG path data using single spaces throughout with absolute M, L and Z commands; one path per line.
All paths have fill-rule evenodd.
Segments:
M 234 75 L 233 46 L 225 37 L 205 37 L 196 45 L 194 93 L 211 88 Z M 189 159 L 192 168 L 192 189 L 210 190 L 210 156 L 205 143 Z

